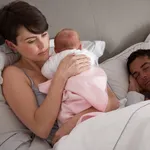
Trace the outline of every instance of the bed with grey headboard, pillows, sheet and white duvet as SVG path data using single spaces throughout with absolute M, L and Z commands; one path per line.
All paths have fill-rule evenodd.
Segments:
M 1 0 L 0 6 L 10 1 Z M 137 49 L 150 49 L 150 1 L 26 1 L 45 14 L 51 38 L 62 28 L 73 28 L 79 32 L 82 44 L 93 52 L 97 42 L 105 42 L 105 49 L 100 48 L 99 65 L 107 73 L 108 84 L 122 107 L 80 123 L 51 148 L 17 119 L 0 87 L 0 150 L 149 150 L 150 101 L 124 106 L 128 90 L 126 59 Z M 1 75 L 3 68 L 19 56 L 2 40 L 0 43 Z

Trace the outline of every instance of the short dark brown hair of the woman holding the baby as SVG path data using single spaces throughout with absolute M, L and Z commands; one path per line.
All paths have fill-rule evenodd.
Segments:
M 45 16 L 35 6 L 24 1 L 13 1 L 0 9 L 0 35 L 17 44 L 18 29 L 41 34 L 48 30 Z

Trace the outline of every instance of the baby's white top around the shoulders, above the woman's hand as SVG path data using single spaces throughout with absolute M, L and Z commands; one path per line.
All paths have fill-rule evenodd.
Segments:
M 54 73 L 56 72 L 60 61 L 68 54 L 73 54 L 73 53 L 76 55 L 84 54 L 90 58 L 92 66 L 98 65 L 98 57 L 94 53 L 92 53 L 86 49 L 65 50 L 60 53 L 50 56 L 50 58 L 45 62 L 45 64 L 43 65 L 43 67 L 41 69 L 43 76 L 45 76 L 47 79 L 51 79 L 53 77 Z

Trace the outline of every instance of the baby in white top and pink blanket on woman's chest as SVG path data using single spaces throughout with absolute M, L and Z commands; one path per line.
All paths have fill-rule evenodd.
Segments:
M 79 35 L 72 29 L 61 30 L 54 39 L 56 54 L 50 56 L 42 67 L 42 74 L 52 79 L 60 61 L 68 54 L 85 54 L 91 60 L 91 69 L 68 79 L 65 86 L 62 105 L 58 116 L 59 124 L 65 123 L 90 107 L 100 112 L 108 112 L 119 107 L 119 101 L 107 88 L 107 76 L 98 67 L 98 57 L 86 49 L 82 49 Z M 47 93 L 51 80 L 39 85 L 39 90 Z M 86 116 L 86 118 L 88 118 Z M 90 116 L 89 116 L 90 118 Z

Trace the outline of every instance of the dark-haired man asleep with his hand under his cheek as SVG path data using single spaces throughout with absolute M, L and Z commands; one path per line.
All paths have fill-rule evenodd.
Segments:
M 126 106 L 150 99 L 150 49 L 133 52 L 127 68 L 130 76 Z

